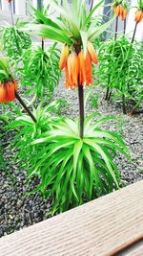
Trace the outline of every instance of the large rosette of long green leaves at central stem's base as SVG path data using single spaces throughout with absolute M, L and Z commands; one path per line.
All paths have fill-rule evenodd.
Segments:
M 85 120 L 84 138 L 79 137 L 79 122 L 69 118 L 52 121 L 51 128 L 32 139 L 36 153 L 30 156 L 29 178 L 40 176 L 40 191 L 52 198 L 51 213 L 66 211 L 92 198 L 119 188 L 120 173 L 114 163 L 117 151 L 130 159 L 121 137 L 99 126 L 112 117 L 92 123 Z

